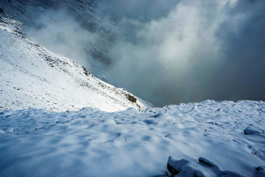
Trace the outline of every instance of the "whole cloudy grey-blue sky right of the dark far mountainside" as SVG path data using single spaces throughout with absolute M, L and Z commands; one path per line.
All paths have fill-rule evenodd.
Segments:
M 118 19 L 114 84 L 156 106 L 265 100 L 265 0 L 95 0 Z

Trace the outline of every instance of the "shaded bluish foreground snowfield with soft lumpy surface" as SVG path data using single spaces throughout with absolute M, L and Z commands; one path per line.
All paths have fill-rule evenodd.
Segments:
M 247 127 L 251 134 L 244 133 Z M 113 113 L 7 110 L 0 113 L 0 176 L 163 177 L 170 175 L 173 156 L 185 162 L 178 177 L 198 171 L 262 177 L 264 130 L 262 101 L 206 100 Z

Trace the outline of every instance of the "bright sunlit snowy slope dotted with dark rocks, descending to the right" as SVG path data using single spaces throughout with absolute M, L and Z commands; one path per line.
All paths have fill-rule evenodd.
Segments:
M 140 99 L 132 103 L 129 95 L 133 96 L 97 79 L 76 62 L 0 29 L 0 111 L 33 107 L 60 112 L 93 107 L 113 112 L 152 107 Z

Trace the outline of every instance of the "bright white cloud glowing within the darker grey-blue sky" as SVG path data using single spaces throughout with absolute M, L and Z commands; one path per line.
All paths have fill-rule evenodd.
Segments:
M 161 100 L 154 95 L 169 99 L 177 91 L 176 97 L 194 96 L 183 92 L 186 87 L 197 89 L 194 93 L 205 89 L 198 87 L 194 69 L 206 67 L 210 75 L 203 77 L 210 79 L 215 73 L 207 67 L 217 67 L 222 56 L 221 42 L 215 36 L 225 19 L 219 7 L 216 2 L 190 0 L 149 23 L 124 18 L 121 24 L 135 26 L 135 41 L 116 41 L 109 53 L 114 59 L 110 72 L 138 95 L 146 97 L 149 93 L 146 99 L 155 104 Z

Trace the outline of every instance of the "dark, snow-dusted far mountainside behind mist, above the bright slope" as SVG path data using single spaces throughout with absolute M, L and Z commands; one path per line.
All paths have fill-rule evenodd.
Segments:
M 97 36 L 94 42 L 85 40 L 82 44 L 82 50 L 87 54 L 86 62 L 89 62 L 89 66 L 91 66 L 89 70 L 97 77 L 106 79 L 107 74 L 105 68 L 111 62 L 106 56 L 106 50 L 112 45 L 118 28 L 112 17 L 102 12 L 96 12 L 94 5 L 88 1 L 89 0 L 0 0 L 0 8 L 3 10 L 3 13 L 0 13 L 0 23 L 1 16 L 18 21 L 20 23 L 20 28 L 17 30 L 28 35 L 28 31 L 31 29 L 45 29 L 46 26 L 51 25 L 52 22 L 54 22 L 54 25 L 58 21 L 67 21 L 68 18 L 71 18 L 71 22 L 68 22 L 68 24 L 65 22 L 68 27 L 61 27 L 62 31 L 67 31 L 70 28 L 69 26 L 73 25 L 71 23 L 74 21 L 77 22 L 74 25 L 78 24 L 80 25 L 79 28 L 82 28 L 82 30 L 89 31 L 91 34 Z M 58 27 L 56 26 L 54 28 Z M 61 35 L 61 32 L 58 31 L 57 35 Z M 36 40 L 42 39 L 42 37 L 36 35 L 34 37 Z M 40 44 L 42 44 L 42 42 L 44 41 L 39 41 Z M 70 45 L 68 42 L 69 41 L 64 40 L 64 44 L 61 45 Z M 53 48 L 50 50 L 53 51 Z M 53 52 L 60 53 L 62 51 L 58 52 L 55 50 Z M 75 60 L 75 58 L 72 60 Z

